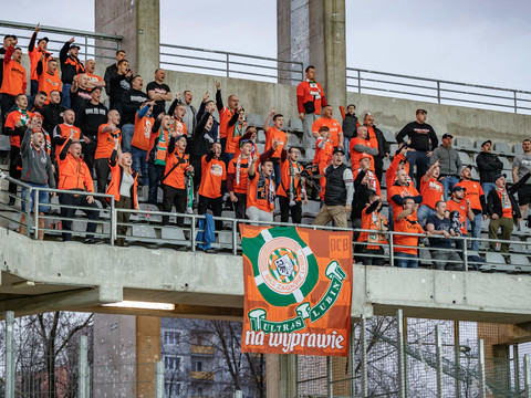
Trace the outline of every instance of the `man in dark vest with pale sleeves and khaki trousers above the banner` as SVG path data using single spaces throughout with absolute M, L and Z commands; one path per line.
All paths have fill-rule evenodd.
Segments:
M 344 157 L 343 148 L 335 147 L 332 164 L 324 169 L 326 178 L 324 206 L 313 221 L 315 226 L 326 226 L 333 220 L 336 227 L 347 227 L 346 214 L 352 210 L 354 186 L 352 170 L 343 164 Z

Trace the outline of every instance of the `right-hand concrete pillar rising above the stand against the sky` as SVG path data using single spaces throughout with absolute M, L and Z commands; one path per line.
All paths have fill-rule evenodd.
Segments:
M 326 100 L 346 105 L 345 0 L 277 0 L 278 57 L 312 64 Z

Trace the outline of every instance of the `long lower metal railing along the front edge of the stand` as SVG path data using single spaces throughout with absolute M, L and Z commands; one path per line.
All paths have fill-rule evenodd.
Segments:
M 196 252 L 198 250 L 206 250 L 204 247 L 200 245 L 207 244 L 205 240 L 199 239 L 199 233 L 205 232 L 204 228 L 198 227 L 199 220 L 205 220 L 206 217 L 204 214 L 188 214 L 188 213 L 178 213 L 178 212 L 164 212 L 158 210 L 147 209 L 118 209 L 115 206 L 114 197 L 110 195 L 102 195 L 102 193 L 93 193 L 93 192 L 80 192 L 80 191 L 70 191 L 76 195 L 83 196 L 94 196 L 96 198 L 101 198 L 103 200 L 107 199 L 110 202 L 108 208 L 98 207 L 97 209 L 94 208 L 79 208 L 72 207 L 64 203 L 60 203 L 58 200 L 52 200 L 49 205 L 51 208 L 50 213 L 40 214 L 39 207 L 43 203 L 39 202 L 39 192 L 46 191 L 46 192 L 56 192 L 56 193 L 65 193 L 69 191 L 62 191 L 58 189 L 50 189 L 50 188 L 35 188 L 29 185 L 25 185 L 21 181 L 18 181 L 2 172 L 0 172 L 0 181 L 1 179 L 6 179 L 8 181 L 14 182 L 17 186 L 24 188 L 25 193 L 24 197 L 22 196 L 13 196 L 7 191 L 2 191 L 0 189 L 0 193 L 4 193 L 7 197 L 17 198 L 21 202 L 29 203 L 31 192 L 34 191 L 35 200 L 33 201 L 32 209 L 29 206 L 25 206 L 25 211 L 20 210 L 15 206 L 9 206 L 8 203 L 0 201 L 0 220 L 7 220 L 9 222 L 13 222 L 15 228 L 17 227 L 24 227 L 25 234 L 30 238 L 38 239 L 40 232 L 44 232 L 50 235 L 60 235 L 62 233 L 72 233 L 74 237 L 85 237 L 87 232 L 85 228 L 72 228 L 73 231 L 65 231 L 64 227 L 62 230 L 59 228 L 54 228 L 64 221 L 72 221 L 72 222 L 81 222 L 81 223 L 96 223 L 98 230 L 94 233 L 94 237 L 111 244 L 116 244 L 117 239 L 124 239 L 128 242 L 128 244 L 133 245 L 145 245 L 145 247 L 155 247 L 155 248 L 164 248 L 169 247 L 173 249 L 178 250 L 190 250 Z M 48 205 L 46 205 L 48 206 Z M 74 218 L 65 218 L 61 214 L 61 209 L 66 208 L 75 208 L 76 210 L 97 210 L 100 211 L 98 220 L 90 220 L 90 219 L 81 219 L 79 217 Z M 2 210 L 9 210 L 7 213 L 2 213 Z M 129 222 L 117 222 L 119 213 L 128 213 L 129 214 Z M 25 221 L 21 222 L 20 217 L 17 219 L 15 214 L 24 214 Z M 162 218 L 168 217 L 168 224 L 162 223 Z M 184 219 L 184 226 L 181 228 L 175 227 L 174 222 L 177 219 Z M 40 220 L 44 220 L 44 228 L 41 228 Z M 250 221 L 250 220 L 239 220 L 231 217 L 214 217 L 215 222 L 221 222 L 225 224 L 226 229 L 223 230 L 216 230 L 215 235 L 216 240 L 214 242 L 209 242 L 211 249 L 214 250 L 227 250 L 233 255 L 238 255 L 241 253 L 241 243 L 240 237 L 238 233 L 238 226 L 239 223 L 252 223 L 259 224 L 264 227 L 293 227 L 292 223 L 283 223 L 283 222 L 269 222 L 269 221 Z M 228 227 L 227 227 L 228 226 Z M 73 224 L 74 227 L 74 224 Z M 118 233 L 118 228 L 125 227 L 126 230 L 131 232 L 127 233 Z M 323 226 L 309 226 L 309 224 L 299 224 L 298 227 L 301 228 L 309 228 L 313 230 L 329 230 L 329 231 L 352 231 L 353 229 L 348 228 L 336 228 L 336 227 L 323 227 Z M 14 229 L 15 229 L 14 228 Z M 360 232 L 369 232 L 374 233 L 374 230 L 363 230 L 363 229 L 354 229 L 355 233 Z M 361 248 L 368 245 L 367 242 L 357 242 L 356 240 L 353 241 L 353 252 L 354 259 L 356 262 L 363 263 L 363 259 L 365 258 L 379 258 L 383 259 L 384 264 L 387 265 L 395 265 L 396 260 L 409 260 L 408 258 L 404 256 L 402 253 L 405 252 L 407 249 L 417 250 L 417 264 L 420 265 L 435 265 L 435 269 L 445 269 L 444 265 L 454 265 L 456 270 L 468 271 L 469 269 L 475 270 L 482 270 L 482 271 L 508 271 L 508 272 L 523 272 L 523 273 L 531 273 L 531 265 L 529 264 L 529 260 L 527 261 L 528 264 L 509 264 L 512 254 L 516 253 L 500 253 L 498 259 L 493 261 L 483 261 L 479 258 L 479 254 L 485 254 L 488 260 L 490 250 L 490 244 L 512 244 L 517 247 L 522 247 L 523 250 L 520 252 L 525 253 L 528 242 L 527 241 L 504 241 L 504 240 L 490 240 L 483 238 L 469 238 L 465 237 L 451 237 L 449 238 L 451 241 L 456 243 L 457 249 L 439 249 L 439 248 L 430 248 L 425 243 L 424 238 L 426 234 L 418 234 L 418 233 L 406 233 L 406 232 L 396 232 L 396 231 L 378 231 L 384 235 L 388 243 L 379 244 L 384 248 L 384 253 L 363 253 L 360 251 Z M 409 235 L 409 237 L 417 237 L 419 238 L 420 244 L 415 247 L 403 245 L 396 243 L 397 235 Z M 483 245 L 483 250 L 479 250 L 478 252 L 471 252 L 468 249 L 469 242 L 478 241 L 480 244 Z M 458 244 L 460 242 L 460 244 Z M 458 252 L 460 260 L 440 260 L 431 258 L 430 252 L 448 252 L 454 251 Z M 498 252 L 497 252 L 498 253 Z M 473 256 L 472 256 L 473 255 Z M 501 255 L 501 256 L 500 256 Z M 523 255 L 525 259 L 527 256 Z M 506 264 L 508 262 L 508 264 Z M 440 264 L 440 266 L 437 266 Z

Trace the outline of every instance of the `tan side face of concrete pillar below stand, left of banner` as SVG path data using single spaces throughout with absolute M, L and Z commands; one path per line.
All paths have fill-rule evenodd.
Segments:
M 160 360 L 160 318 L 136 316 L 137 397 L 155 398 L 155 365 Z

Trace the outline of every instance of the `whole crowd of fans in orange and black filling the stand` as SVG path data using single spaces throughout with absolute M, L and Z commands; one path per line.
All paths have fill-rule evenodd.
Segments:
M 38 33 L 39 25 L 28 49 L 29 96 L 17 38 L 7 35 L 0 49 L 9 172 L 30 186 L 59 188 L 60 203 L 82 206 L 90 221 L 98 218 L 94 197 L 77 191 L 113 195 L 117 208 L 138 209 L 137 192 L 144 186 L 147 201 L 162 211 L 175 206 L 178 213 L 186 213 L 197 207 L 199 214 L 210 210 L 221 216 L 223 209 L 232 209 L 237 219 L 250 221 L 273 221 L 278 203 L 281 221 L 291 216 L 293 223 L 302 222 L 303 203 L 319 200 L 314 224 L 346 228 L 350 217 L 355 239 L 364 243 L 356 245 L 363 263 L 383 263 L 378 255 L 387 243 L 385 231 L 393 230 L 395 265 L 417 266 L 418 237 L 400 234 L 413 232 L 429 237 L 429 247 L 446 249 L 433 253 L 437 269 L 459 270 L 462 240 L 451 237 L 480 238 L 481 224 L 490 218 L 489 238 L 494 240 L 501 229 L 501 239 L 510 240 L 531 201 L 529 139 L 514 158 L 511 187 L 506 187 L 503 164 L 491 153 L 492 143 L 482 143 L 478 182 L 472 180 L 472 165 L 462 165 L 452 148 L 450 134 L 444 134 L 439 145 L 425 109 L 417 109 L 416 119 L 398 132 L 398 148 L 392 154 L 369 113 L 358 119 L 351 104 L 340 107 L 341 122 L 333 117 L 315 69 L 308 66 L 306 78 L 296 88 L 302 145 L 289 145 L 298 140 L 291 139 L 282 114 L 273 108 L 263 126 L 248 125 L 237 95 L 223 102 L 220 83 L 215 98 L 207 92 L 196 109 L 192 93 L 174 95 L 162 69 L 144 91 L 144 80 L 131 71 L 124 51 L 116 52 L 116 63 L 102 77 L 94 74 L 93 60 L 80 61 L 74 39 L 55 59 L 46 51 L 48 39 L 38 40 Z M 108 108 L 101 102 L 103 90 Z M 260 128 L 266 137 L 261 154 Z M 302 165 L 302 151 L 312 149 L 313 160 L 306 159 L 311 165 Z M 17 185 L 10 184 L 9 192 L 9 205 L 14 206 Z M 39 211 L 49 211 L 49 200 L 41 191 Z M 382 212 L 385 202 L 388 219 Z M 72 218 L 74 212 L 61 208 L 62 217 Z M 128 214 L 118 212 L 118 223 L 126 223 Z M 183 222 L 177 218 L 179 227 Z M 163 217 L 163 224 L 168 223 L 169 217 Z M 71 221 L 63 221 L 62 228 L 63 239 L 71 240 Z M 218 221 L 216 228 L 223 226 Z M 95 241 L 95 231 L 96 223 L 88 222 L 87 243 Z M 118 229 L 118 235 L 126 232 L 126 227 Z M 448 250 L 454 247 L 458 250 Z M 472 240 L 470 249 L 479 250 L 479 241 Z M 502 243 L 501 251 L 508 253 L 509 245 Z

